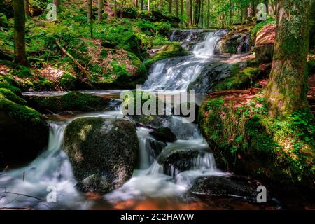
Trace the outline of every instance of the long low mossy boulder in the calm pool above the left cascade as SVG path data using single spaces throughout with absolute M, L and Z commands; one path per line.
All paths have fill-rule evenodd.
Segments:
M 81 92 L 68 92 L 63 96 L 27 97 L 29 105 L 43 113 L 58 113 L 64 111 L 102 111 L 109 106 L 110 99 Z

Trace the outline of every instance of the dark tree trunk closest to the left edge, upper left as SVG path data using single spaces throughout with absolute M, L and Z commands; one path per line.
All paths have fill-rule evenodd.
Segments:
M 25 52 L 25 5 L 23 0 L 13 0 L 14 10 L 14 60 L 28 65 Z

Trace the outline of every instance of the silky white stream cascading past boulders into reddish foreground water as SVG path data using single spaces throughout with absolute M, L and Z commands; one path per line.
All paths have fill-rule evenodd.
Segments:
M 187 31 L 190 32 L 190 31 Z M 186 92 L 204 69 L 215 58 L 227 57 L 214 55 L 216 42 L 226 34 L 224 29 L 210 31 L 204 35 L 192 49 L 191 55 L 163 59 L 151 67 L 148 80 L 144 84 L 146 91 L 164 91 L 165 94 Z M 190 38 L 188 35 L 186 38 Z M 176 39 L 172 34 L 171 40 Z M 186 40 L 189 42 L 189 40 Z M 183 41 L 185 43 L 185 41 Z M 186 46 L 187 47 L 187 46 Z M 233 57 L 228 56 L 228 57 Z M 36 209 L 279 209 L 281 204 L 276 199 L 274 204 L 259 204 L 246 198 L 216 197 L 202 200 L 192 194 L 190 188 L 200 176 L 233 176 L 216 167 L 216 158 L 211 153 L 207 141 L 194 123 L 183 123 L 181 116 L 171 116 L 167 126 L 176 134 L 177 141 L 167 143 L 162 152 L 174 148 L 193 148 L 200 152 L 189 161 L 190 170 L 179 172 L 171 167 L 165 172 L 164 167 L 152 155 L 148 140 L 153 137 L 148 127 L 137 127 L 139 139 L 139 161 L 132 178 L 122 187 L 99 195 L 82 193 L 76 189 L 71 163 L 62 150 L 64 130 L 71 121 L 80 117 L 123 118 L 119 99 L 120 90 L 87 90 L 90 94 L 111 98 L 110 110 L 98 113 L 82 113 L 68 116 L 50 116 L 50 137 L 48 147 L 38 158 L 25 167 L 8 169 L 0 173 L 0 186 L 8 194 L 4 204 L 8 207 L 32 207 Z M 25 92 L 25 95 L 57 95 L 65 92 Z M 197 95 L 197 103 L 204 100 L 205 94 Z M 187 162 L 187 161 L 183 161 Z M 57 202 L 48 203 L 48 186 L 57 188 Z M 1 190 L 3 191 L 3 189 Z M 10 194 L 19 193 L 20 195 Z M 17 198 L 18 196 L 18 198 Z

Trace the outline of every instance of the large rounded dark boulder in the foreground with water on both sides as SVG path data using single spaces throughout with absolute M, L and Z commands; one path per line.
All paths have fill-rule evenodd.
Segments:
M 134 123 L 118 118 L 78 118 L 64 132 L 79 190 L 108 193 L 130 179 L 139 142 Z

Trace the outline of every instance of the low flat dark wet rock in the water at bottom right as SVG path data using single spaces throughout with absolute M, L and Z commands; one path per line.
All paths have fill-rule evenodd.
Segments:
M 250 181 L 233 176 L 202 176 L 199 177 L 190 193 L 205 197 L 240 197 L 256 200 L 258 192 Z

